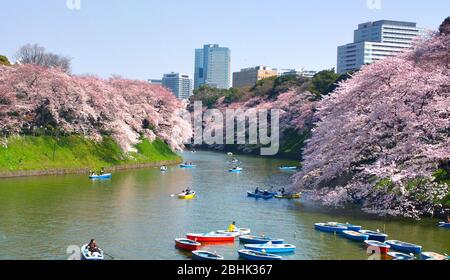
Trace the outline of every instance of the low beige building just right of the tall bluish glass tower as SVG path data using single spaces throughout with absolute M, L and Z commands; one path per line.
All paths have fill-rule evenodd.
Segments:
M 278 76 L 278 72 L 267 66 L 244 68 L 233 73 L 233 87 L 254 86 L 257 81 L 273 76 Z

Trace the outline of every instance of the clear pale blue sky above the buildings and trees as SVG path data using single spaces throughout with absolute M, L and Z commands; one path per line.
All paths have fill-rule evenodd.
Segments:
M 362 22 L 414 21 L 437 29 L 450 1 L 381 0 L 0 0 L 0 54 L 26 43 L 73 58 L 75 74 L 160 78 L 192 74 L 194 49 L 219 43 L 232 70 L 254 65 L 321 70 L 335 67 L 336 48 Z

